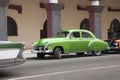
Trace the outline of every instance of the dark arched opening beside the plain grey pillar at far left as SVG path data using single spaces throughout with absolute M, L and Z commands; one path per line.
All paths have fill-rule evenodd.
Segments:
M 8 36 L 18 36 L 16 21 L 9 16 L 7 16 L 7 31 Z

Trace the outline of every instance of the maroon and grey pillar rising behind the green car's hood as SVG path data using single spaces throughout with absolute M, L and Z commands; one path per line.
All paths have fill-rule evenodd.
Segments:
M 44 7 L 47 11 L 47 37 L 54 37 L 61 30 L 61 10 L 63 4 L 46 3 Z

